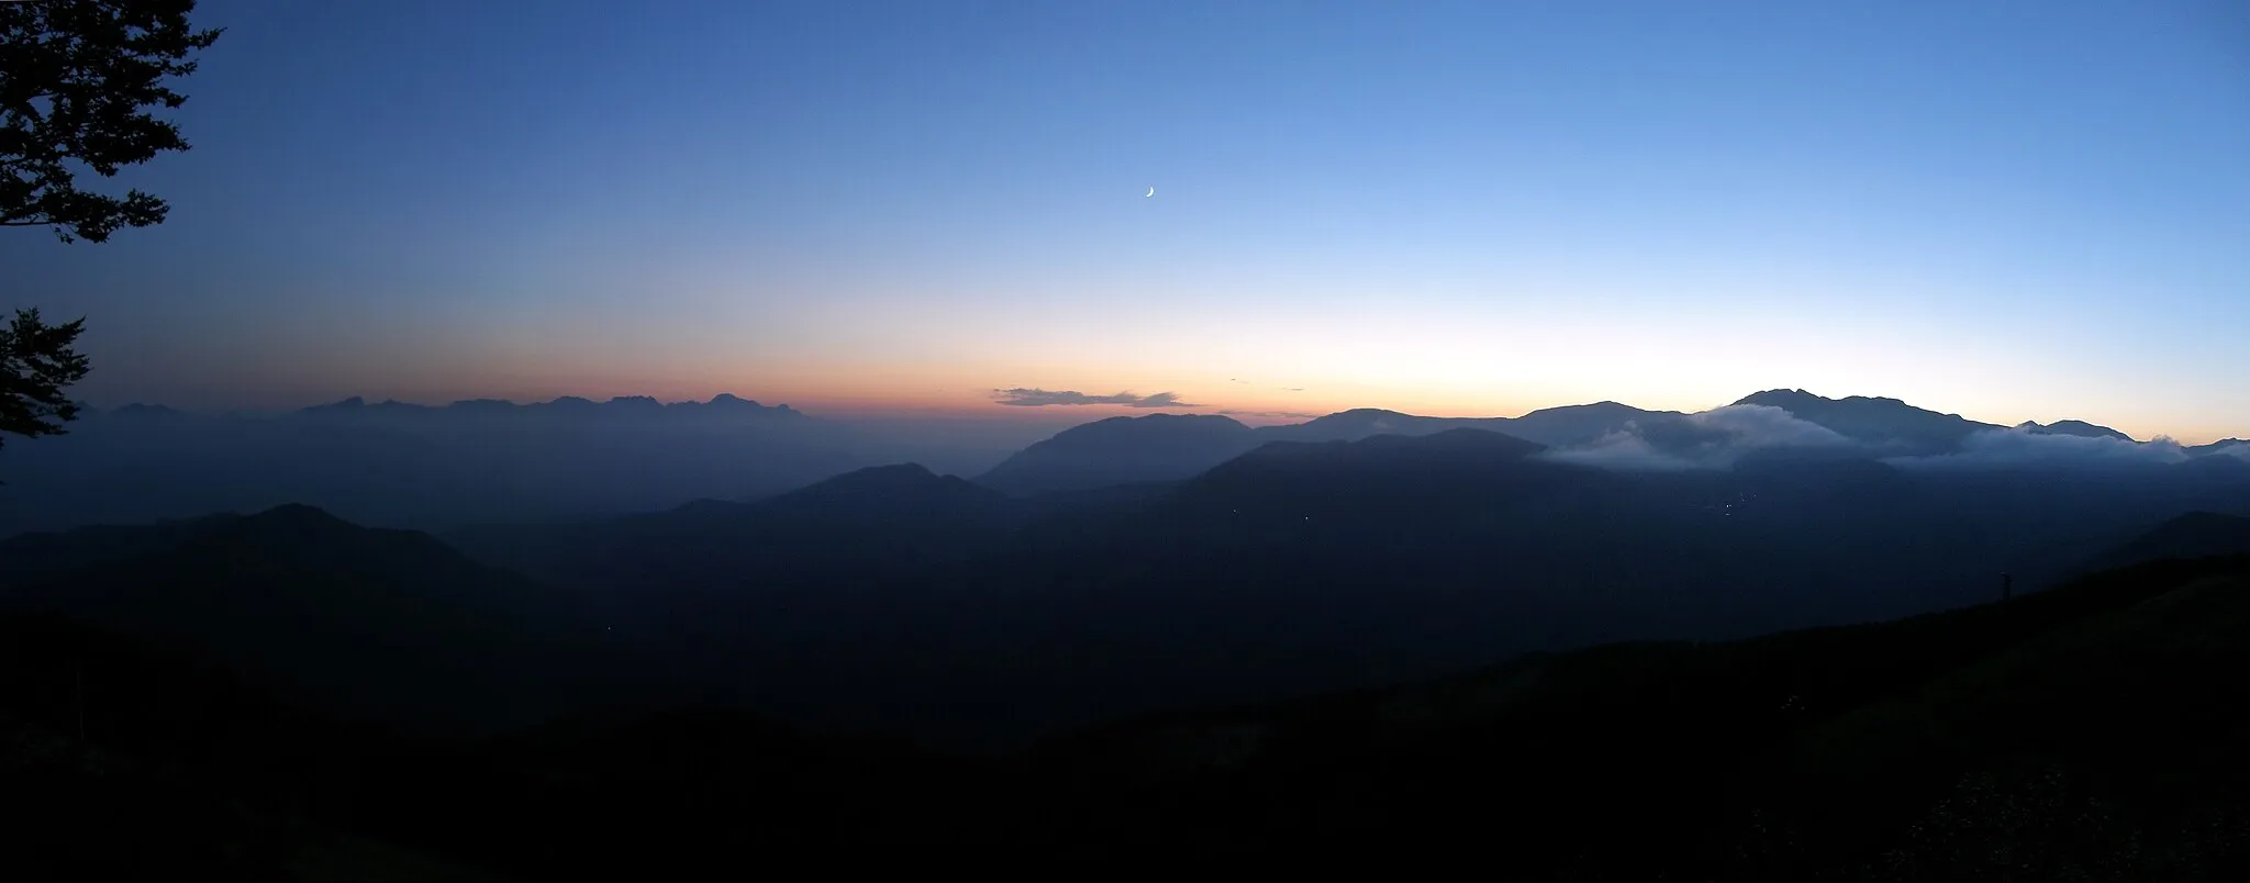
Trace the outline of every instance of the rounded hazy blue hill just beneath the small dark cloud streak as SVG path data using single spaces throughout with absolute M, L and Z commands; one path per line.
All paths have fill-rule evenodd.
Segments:
M 1008 494 L 1091 490 L 1172 481 L 1204 472 L 1258 445 L 1242 422 L 1206 413 L 1109 418 L 1064 429 L 976 476 Z

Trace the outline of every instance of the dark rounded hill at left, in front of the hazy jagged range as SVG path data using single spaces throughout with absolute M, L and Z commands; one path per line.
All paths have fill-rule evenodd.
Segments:
M 272 683 L 344 714 L 477 732 L 598 697 L 598 627 L 562 593 L 470 562 L 430 535 L 369 530 L 310 506 L 99 530 L 122 550 L 11 584 L 54 609 Z M 25 537 L 50 562 L 88 535 Z

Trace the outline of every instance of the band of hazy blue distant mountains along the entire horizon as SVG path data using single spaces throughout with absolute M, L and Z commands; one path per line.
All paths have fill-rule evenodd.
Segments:
M 1760 411 L 1771 409 L 1771 411 Z M 1786 418 L 1786 420 L 1784 420 Z M 958 420 L 954 420 L 958 422 Z M 738 395 L 659 402 L 558 398 L 443 407 L 342 402 L 277 418 L 202 416 L 158 404 L 88 411 L 68 436 L 18 440 L 0 461 L 0 537 L 86 524 L 182 519 L 281 503 L 360 524 L 446 530 L 497 521 L 666 510 L 693 499 L 758 499 L 850 470 L 922 463 L 1019 497 L 1190 479 L 1274 440 L 1359 440 L 1487 429 L 1555 447 L 1548 456 L 1616 470 L 1726 467 L 1757 456 L 1888 456 L 1915 467 L 2158 463 L 2228 454 L 2239 440 L 2133 443 L 2079 420 L 2014 429 L 1888 398 L 1764 391 L 1678 413 L 1620 402 L 1516 418 L 1424 418 L 1352 409 L 1296 425 L 1226 416 L 1107 418 L 1051 438 L 1035 425 L 850 422 Z M 2032 438 L 2043 436 L 2043 438 Z M 2068 447 L 2081 445 L 2081 447 Z M 1915 463 L 1912 458 L 1926 458 Z M 2216 463 L 2210 470 L 2228 470 Z

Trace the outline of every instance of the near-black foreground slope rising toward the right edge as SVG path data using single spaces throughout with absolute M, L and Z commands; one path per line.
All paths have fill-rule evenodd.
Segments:
M 1062 739 L 1042 831 L 1512 879 L 2239 879 L 2250 559 Z M 1087 800 L 1087 795 L 1100 795 Z M 2081 874 L 2081 876 L 2072 876 Z

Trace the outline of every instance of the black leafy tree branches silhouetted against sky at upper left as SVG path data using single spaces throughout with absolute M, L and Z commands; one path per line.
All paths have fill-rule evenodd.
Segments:
M 52 227 L 63 243 L 104 243 L 119 227 L 164 222 L 164 200 L 79 189 L 76 169 L 110 177 L 158 153 L 187 151 L 155 106 L 184 94 L 169 76 L 196 72 L 189 54 L 218 40 L 194 29 L 196 0 L 0 2 L 0 227 Z M 0 328 L 0 434 L 52 436 L 76 418 L 63 386 L 86 377 L 72 346 L 86 319 L 50 326 L 16 310 Z

